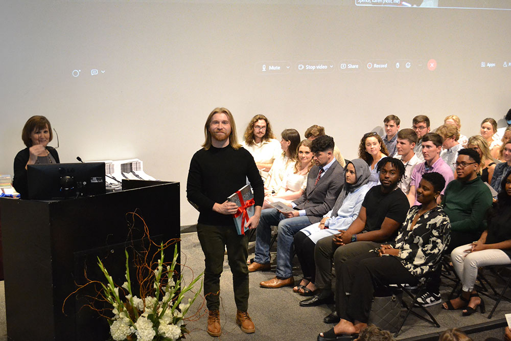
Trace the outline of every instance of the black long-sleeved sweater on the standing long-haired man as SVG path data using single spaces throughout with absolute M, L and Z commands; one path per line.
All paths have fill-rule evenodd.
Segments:
M 245 186 L 247 177 L 253 189 L 255 206 L 263 206 L 263 180 L 246 149 L 234 149 L 229 145 L 197 151 L 188 171 L 187 198 L 198 206 L 199 222 L 234 226 L 233 217 L 214 212 L 213 205 L 215 202 L 223 203 Z

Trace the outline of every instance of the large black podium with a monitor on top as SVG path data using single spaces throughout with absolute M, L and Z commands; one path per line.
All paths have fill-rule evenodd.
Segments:
M 89 278 L 101 279 L 97 257 L 116 283 L 124 282 L 125 247 L 144 242 L 140 219 L 128 240 L 133 219 L 127 213 L 140 214 L 156 242 L 179 238 L 179 183 L 154 184 L 131 180 L 123 183 L 129 190 L 60 201 L 0 198 L 10 340 L 108 339 L 106 320 L 81 308 L 94 291 L 72 295 L 65 314 L 62 305 L 75 282 L 85 283 L 84 268 Z

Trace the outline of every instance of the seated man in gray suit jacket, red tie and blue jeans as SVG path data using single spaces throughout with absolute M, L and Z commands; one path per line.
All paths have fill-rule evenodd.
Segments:
M 294 211 L 282 213 L 276 209 L 266 209 L 261 212 L 256 231 L 254 262 L 248 266 L 248 271 L 270 269 L 271 226 L 278 225 L 276 276 L 261 282 L 263 288 L 294 285 L 291 265 L 294 234 L 320 221 L 332 209 L 344 185 L 344 170 L 333 154 L 334 139 L 328 135 L 318 137 L 312 141 L 311 151 L 316 165 L 307 177 L 306 191 L 291 203 Z

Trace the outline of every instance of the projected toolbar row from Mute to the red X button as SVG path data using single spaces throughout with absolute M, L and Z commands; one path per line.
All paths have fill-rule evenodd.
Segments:
M 331 73 L 334 71 L 354 72 L 408 72 L 412 70 L 436 70 L 436 60 L 410 59 L 369 59 L 361 61 L 358 59 L 345 59 L 338 63 L 332 60 L 300 60 L 295 63 L 289 61 L 261 61 L 255 64 L 255 72 L 260 75 L 287 74 L 297 72 L 300 74 Z

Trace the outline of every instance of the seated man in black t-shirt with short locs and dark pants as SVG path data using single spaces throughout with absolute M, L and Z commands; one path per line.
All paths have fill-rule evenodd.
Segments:
M 403 163 L 397 158 L 385 157 L 377 167 L 381 185 L 374 186 L 367 192 L 360 212 L 350 227 L 333 237 L 322 238 L 316 243 L 314 248 L 315 285 L 319 291 L 313 297 L 301 301 L 300 306 L 312 307 L 332 300 L 332 259 L 335 273 L 340 274 L 344 261 L 392 241 L 405 221 L 406 212 L 410 206 L 403 192 L 397 189 L 399 180 L 405 172 Z M 336 288 L 340 288 L 341 280 L 341 276 L 336 276 Z M 337 322 L 337 314 L 333 312 L 323 321 Z

